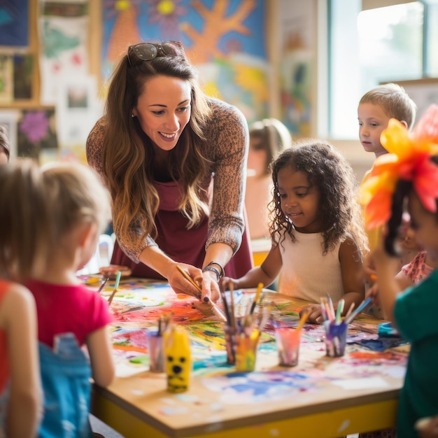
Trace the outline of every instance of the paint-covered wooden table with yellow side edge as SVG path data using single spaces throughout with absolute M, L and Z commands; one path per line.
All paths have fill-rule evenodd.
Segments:
M 111 288 L 108 283 L 104 295 Z M 355 320 L 348 342 L 359 344 L 349 343 L 342 358 L 327 358 L 322 327 L 305 325 L 299 363 L 292 368 L 278 366 L 267 327 L 255 372 L 237 374 L 225 365 L 221 323 L 192 309 L 190 299 L 147 281 L 122 281 L 119 295 L 113 301 L 118 377 L 106 389 L 94 386 L 92 413 L 127 438 L 330 438 L 395 425 L 407 347 L 375 351 L 363 346 L 377 342 L 372 339 L 380 320 Z M 245 309 L 253 291 L 239 297 Z M 282 320 L 296 325 L 295 310 L 304 302 L 266 292 L 264 302 L 271 299 Z M 165 374 L 148 371 L 146 327 L 169 309 L 192 340 L 190 388 L 179 395 L 167 392 Z

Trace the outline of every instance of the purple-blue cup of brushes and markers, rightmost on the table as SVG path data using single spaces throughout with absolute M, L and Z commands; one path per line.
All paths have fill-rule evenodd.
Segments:
M 339 299 L 335 313 L 332 299 L 328 296 L 327 299 L 321 298 L 321 311 L 325 329 L 325 350 L 328 357 L 340 358 L 345 354 L 348 325 L 370 302 L 371 298 L 365 299 L 354 311 L 354 303 L 352 303 L 346 316 L 341 318 L 345 305 L 344 299 Z

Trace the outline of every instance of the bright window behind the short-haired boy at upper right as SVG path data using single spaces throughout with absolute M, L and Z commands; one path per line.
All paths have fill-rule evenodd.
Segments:
M 358 137 L 358 102 L 379 83 L 438 77 L 438 0 L 329 0 L 328 134 Z M 435 48 L 435 50 L 434 50 Z

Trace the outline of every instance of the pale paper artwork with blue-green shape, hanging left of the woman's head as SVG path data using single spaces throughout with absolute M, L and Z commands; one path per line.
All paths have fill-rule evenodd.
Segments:
M 55 105 L 59 83 L 66 77 L 87 76 L 89 17 L 87 0 L 43 1 L 38 20 L 41 45 L 41 97 L 43 105 Z M 85 79 L 86 80 L 86 79 Z

